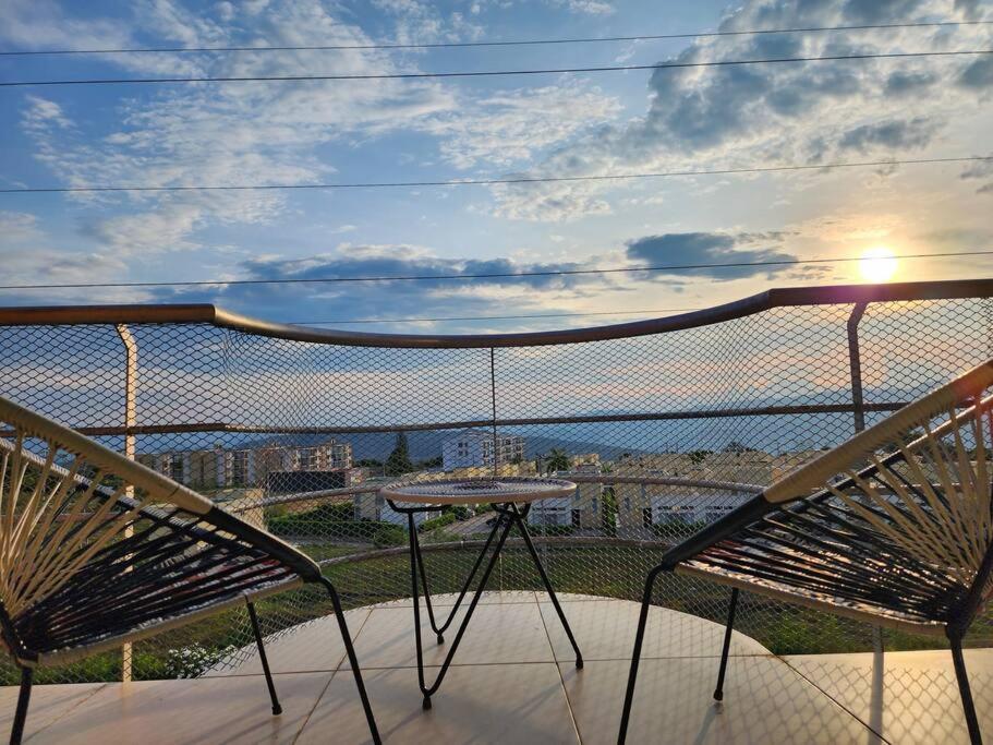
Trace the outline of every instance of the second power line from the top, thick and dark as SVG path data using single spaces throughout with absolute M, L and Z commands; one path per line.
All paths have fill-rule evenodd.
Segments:
M 0 87 L 31 87 L 52 85 L 126 85 L 126 84 L 171 84 L 171 83 L 289 83 L 307 81 L 367 81 L 367 80 L 420 80 L 426 77 L 493 77 L 500 75 L 554 75 L 578 72 L 627 72 L 633 70 L 680 70 L 687 68 L 725 68 L 748 64 L 780 64 L 790 62 L 834 62 L 839 60 L 909 59 L 924 57 L 962 57 L 993 55 L 993 49 L 962 49 L 954 51 L 894 51 L 865 55 L 828 55 L 826 57 L 772 57 L 755 60 L 718 60 L 711 62 L 659 62 L 656 64 L 620 64 L 593 68 L 544 68 L 528 70 L 476 70 L 455 72 L 393 72 L 326 75 L 230 75 L 203 77 L 97 77 L 86 80 L 12 81 L 0 83 Z

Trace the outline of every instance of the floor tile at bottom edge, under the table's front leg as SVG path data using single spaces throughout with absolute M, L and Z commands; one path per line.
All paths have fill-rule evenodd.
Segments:
M 416 670 L 371 670 L 364 680 L 386 743 L 579 742 L 553 663 L 452 666 L 429 711 L 421 708 Z M 324 744 L 329 733 L 342 745 L 371 741 L 348 671 L 335 675 L 298 743 Z

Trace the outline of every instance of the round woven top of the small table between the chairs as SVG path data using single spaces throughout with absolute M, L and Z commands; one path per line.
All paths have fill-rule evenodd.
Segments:
M 379 495 L 395 502 L 417 504 L 493 504 L 567 496 L 574 489 L 576 484 L 565 479 L 505 476 L 403 481 L 384 486 Z

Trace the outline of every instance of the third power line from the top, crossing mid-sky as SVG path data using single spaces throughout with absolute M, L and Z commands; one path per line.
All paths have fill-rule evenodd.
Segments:
M 973 155 L 954 158 L 907 158 L 903 160 L 858 160 L 848 163 L 800 164 L 795 166 L 764 166 L 753 168 L 722 168 L 717 170 L 655 171 L 650 173 L 607 173 L 603 176 L 540 176 L 506 179 L 457 179 L 448 181 L 359 181 L 342 183 L 274 183 L 230 184 L 191 187 L 27 187 L 0 189 L 0 194 L 60 194 L 74 192 L 182 192 L 182 191 L 265 191 L 265 190 L 315 190 L 315 189 L 387 189 L 419 187 L 471 187 L 514 183 L 553 183 L 557 181 L 619 181 L 623 179 L 661 179 L 688 176 L 734 176 L 742 173 L 772 173 L 778 171 L 823 170 L 828 168 L 867 168 L 886 166 L 921 166 L 952 163 L 977 163 L 993 160 L 991 155 Z

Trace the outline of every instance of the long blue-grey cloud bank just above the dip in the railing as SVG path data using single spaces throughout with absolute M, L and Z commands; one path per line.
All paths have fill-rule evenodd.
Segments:
M 156 288 L 158 301 L 215 302 L 258 317 L 319 321 L 434 316 L 554 313 L 584 310 L 589 304 L 626 290 L 613 275 L 545 275 L 492 277 L 463 281 L 438 276 L 518 274 L 592 268 L 585 262 L 532 263 L 510 259 L 440 257 L 431 249 L 410 244 L 342 244 L 329 253 L 299 259 L 270 255 L 245 260 L 235 276 L 250 279 L 313 279 L 356 277 L 428 277 L 415 281 L 292 283 L 220 287 Z M 584 303 L 586 305 L 584 305 Z M 477 325 L 457 324 L 481 331 Z

